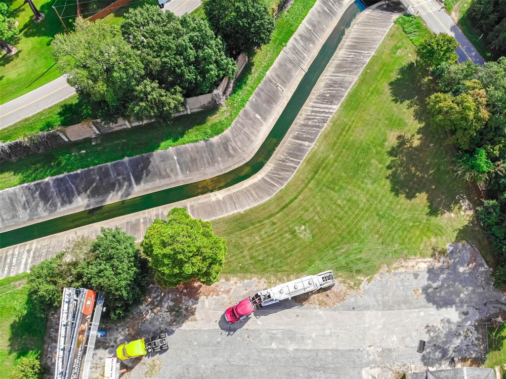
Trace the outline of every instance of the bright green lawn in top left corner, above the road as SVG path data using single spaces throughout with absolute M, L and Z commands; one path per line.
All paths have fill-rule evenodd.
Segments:
M 54 0 L 34 0 L 34 4 L 46 15 L 39 23 L 32 21 L 33 13 L 23 2 L 24 0 L 7 0 L 12 17 L 19 22 L 20 32 L 11 43 L 18 48 L 17 54 L 9 57 L 2 53 L 0 58 L 0 104 L 43 86 L 61 75 L 50 56 L 49 46 L 55 34 L 63 31 L 60 20 L 51 8 Z

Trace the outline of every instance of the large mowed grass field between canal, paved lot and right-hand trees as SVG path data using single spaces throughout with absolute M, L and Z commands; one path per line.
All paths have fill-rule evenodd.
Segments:
M 332 269 L 351 285 L 401 258 L 482 237 L 459 206 L 446 138 L 411 108 L 414 46 L 394 25 L 300 169 L 278 194 L 213 221 L 224 275 L 293 277 Z M 405 72 L 406 69 L 401 70 Z M 411 100 L 410 100 L 411 99 Z

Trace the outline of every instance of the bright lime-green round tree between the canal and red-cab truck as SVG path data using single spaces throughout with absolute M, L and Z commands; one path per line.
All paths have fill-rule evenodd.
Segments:
M 144 254 L 161 287 L 193 279 L 204 284 L 219 280 L 227 245 L 209 222 L 191 218 L 185 208 L 173 208 L 167 221 L 156 219 L 142 242 Z

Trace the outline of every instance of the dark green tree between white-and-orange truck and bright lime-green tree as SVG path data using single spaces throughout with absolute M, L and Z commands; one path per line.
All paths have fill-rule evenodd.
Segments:
M 112 319 L 123 317 L 142 296 L 144 275 L 135 238 L 119 228 L 102 228 L 78 272 L 84 286 L 104 294 Z

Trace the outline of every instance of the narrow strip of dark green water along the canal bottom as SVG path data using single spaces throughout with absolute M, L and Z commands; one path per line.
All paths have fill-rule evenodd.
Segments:
M 338 24 L 323 44 L 313 63 L 309 66 L 308 71 L 304 74 L 299 86 L 297 86 L 296 91 L 286 104 L 286 107 L 274 124 L 266 140 L 257 153 L 242 166 L 239 166 L 225 174 L 202 180 L 200 182 L 168 188 L 166 190 L 83 210 L 82 212 L 0 233 L 0 247 L 11 246 L 17 243 L 78 228 L 80 226 L 185 200 L 204 193 L 218 191 L 240 183 L 255 175 L 267 163 L 290 128 L 291 124 L 296 119 L 297 114 L 311 94 L 313 87 L 316 85 L 318 78 L 341 43 L 346 29 L 351 25 L 359 13 L 360 10 L 355 3 L 350 5 L 350 7 L 348 7 L 348 9 L 344 12 Z M 266 106 L 269 105 L 266 104 Z

